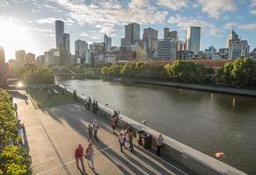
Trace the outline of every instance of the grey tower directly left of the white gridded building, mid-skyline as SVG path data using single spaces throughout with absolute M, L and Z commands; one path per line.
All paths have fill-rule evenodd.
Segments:
M 157 49 L 158 32 L 155 29 L 147 28 L 143 30 L 143 50 L 150 58 Z

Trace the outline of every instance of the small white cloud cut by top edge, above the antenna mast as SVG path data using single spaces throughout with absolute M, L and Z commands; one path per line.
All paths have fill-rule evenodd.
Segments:
M 187 6 L 187 0 L 158 0 L 157 5 L 167 7 L 172 11 L 178 11 Z

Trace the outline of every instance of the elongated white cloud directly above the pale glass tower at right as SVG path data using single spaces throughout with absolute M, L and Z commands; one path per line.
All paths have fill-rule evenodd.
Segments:
M 219 30 L 215 25 L 210 24 L 208 21 L 201 19 L 176 15 L 169 18 L 168 23 L 171 25 L 177 25 L 180 29 L 185 29 L 189 26 L 201 26 L 202 32 L 215 37 L 223 37 L 223 31 Z

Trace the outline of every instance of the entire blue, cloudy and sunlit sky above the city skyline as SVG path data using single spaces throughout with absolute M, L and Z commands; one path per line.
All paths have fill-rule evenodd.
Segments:
M 55 20 L 65 23 L 74 53 L 75 40 L 103 42 L 104 33 L 120 45 L 124 25 L 151 27 L 163 38 L 164 28 L 185 40 L 187 26 L 201 26 L 201 50 L 225 47 L 234 28 L 256 47 L 256 0 L 0 0 L 0 45 L 6 59 L 24 49 L 36 55 L 55 48 Z

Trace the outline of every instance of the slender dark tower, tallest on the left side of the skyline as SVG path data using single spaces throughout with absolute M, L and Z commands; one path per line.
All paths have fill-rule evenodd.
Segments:
M 64 23 L 61 20 L 55 21 L 56 49 L 64 49 Z

